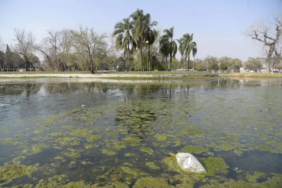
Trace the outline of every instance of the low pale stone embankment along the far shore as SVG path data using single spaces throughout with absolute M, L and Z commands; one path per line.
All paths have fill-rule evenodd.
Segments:
M 118 78 L 118 77 L 139 77 L 139 78 L 186 78 L 186 77 L 215 77 L 218 74 L 0 74 L 0 77 L 61 77 L 61 78 Z

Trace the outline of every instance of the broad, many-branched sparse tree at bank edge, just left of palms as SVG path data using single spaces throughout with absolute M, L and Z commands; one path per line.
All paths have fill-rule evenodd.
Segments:
M 108 35 L 103 33 L 99 35 L 93 31 L 93 28 L 84 29 L 80 25 L 79 30 L 72 31 L 73 44 L 76 52 L 80 54 L 87 62 L 88 68 L 92 74 L 95 74 L 101 64 L 115 49 L 114 41 L 107 41 Z M 110 43 L 110 44 L 108 44 Z

